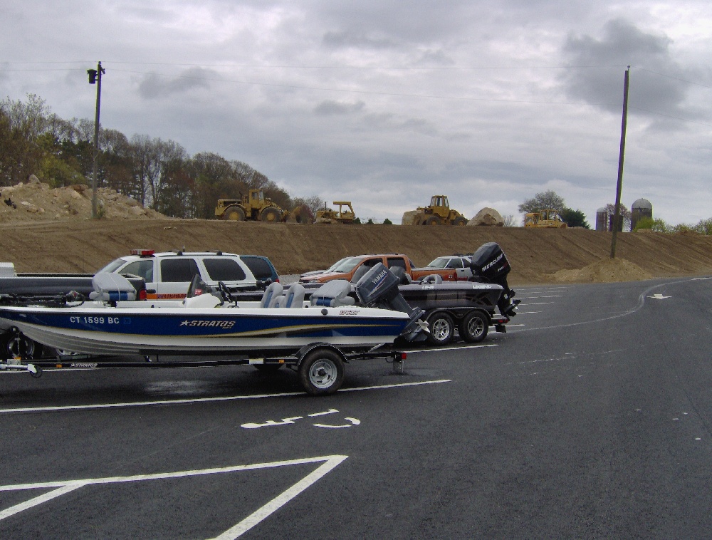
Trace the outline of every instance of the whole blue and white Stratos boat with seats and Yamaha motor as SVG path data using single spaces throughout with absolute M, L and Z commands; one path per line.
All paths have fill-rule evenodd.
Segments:
M 384 266 L 355 287 L 330 281 L 309 301 L 299 284 L 272 284 L 261 301 L 237 301 L 225 287 L 209 291 L 197 280 L 184 301 L 124 301 L 133 288 L 122 279 L 98 274 L 88 301 L 0 306 L 0 318 L 44 346 L 92 355 L 276 354 L 311 343 L 358 350 L 422 329 L 422 310 L 389 303 L 399 296 L 397 279 Z M 354 289 L 359 303 L 348 296 Z

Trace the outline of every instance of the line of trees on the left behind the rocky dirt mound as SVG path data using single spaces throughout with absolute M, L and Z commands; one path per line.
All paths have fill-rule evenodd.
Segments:
M 36 175 L 51 187 L 91 184 L 94 121 L 65 120 L 45 100 L 0 101 L 0 185 Z M 148 135 L 126 137 L 100 127 L 97 187 L 108 187 L 170 217 L 214 217 L 217 199 L 239 198 L 263 189 L 283 209 L 306 204 L 315 212 L 318 196 L 291 197 L 250 165 L 213 152 L 189 155 L 179 143 Z

